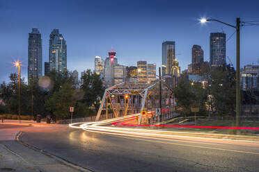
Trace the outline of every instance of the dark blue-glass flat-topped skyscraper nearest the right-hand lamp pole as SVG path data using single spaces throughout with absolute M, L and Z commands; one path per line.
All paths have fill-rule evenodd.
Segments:
M 226 33 L 210 33 L 210 65 L 226 63 Z

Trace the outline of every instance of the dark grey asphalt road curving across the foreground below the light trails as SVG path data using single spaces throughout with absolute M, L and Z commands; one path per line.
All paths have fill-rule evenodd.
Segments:
M 61 128 L 22 141 L 91 171 L 259 171 L 259 146 L 240 141 L 161 141 Z

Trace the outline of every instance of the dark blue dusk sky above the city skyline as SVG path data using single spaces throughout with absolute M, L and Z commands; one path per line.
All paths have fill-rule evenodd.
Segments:
M 201 17 L 221 19 L 235 25 L 259 20 L 259 1 L 0 1 L 0 82 L 17 71 L 12 62 L 22 61 L 22 76 L 27 78 L 28 34 L 38 28 L 42 34 L 43 62 L 48 61 L 49 33 L 58 28 L 68 45 L 68 69 L 81 72 L 93 69 L 95 55 L 103 59 L 107 51 L 117 52 L 122 65 L 138 60 L 162 63 L 162 42 L 175 41 L 181 69 L 191 63 L 191 46 L 199 44 L 209 60 L 211 32 L 232 35 L 234 28 L 214 22 L 199 24 Z M 235 35 L 227 42 L 227 55 L 235 65 Z M 257 64 L 259 26 L 241 31 L 241 64 Z M 228 62 L 228 60 L 227 60 Z M 43 65 L 44 66 L 44 65 Z M 44 72 L 43 72 L 44 74 Z M 81 75 L 79 75 L 81 76 Z

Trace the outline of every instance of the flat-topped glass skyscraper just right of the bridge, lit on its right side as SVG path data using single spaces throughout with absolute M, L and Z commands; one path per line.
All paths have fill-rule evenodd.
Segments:
M 166 41 L 162 44 L 162 75 L 171 74 L 175 59 L 175 42 Z

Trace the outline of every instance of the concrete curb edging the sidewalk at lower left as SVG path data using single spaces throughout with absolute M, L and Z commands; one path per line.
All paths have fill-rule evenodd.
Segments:
M 47 156 L 49 156 L 49 157 L 52 157 L 52 158 L 54 158 L 55 160 L 57 160 L 58 162 L 61 162 L 62 164 L 65 164 L 66 166 L 70 166 L 70 167 L 72 167 L 73 169 L 77 169 L 78 171 L 82 171 L 82 172 L 93 172 L 93 171 L 91 171 L 90 169 L 86 169 L 86 168 L 84 168 L 84 167 L 78 166 L 77 164 L 74 164 L 74 163 L 72 163 L 72 162 L 69 162 L 68 160 L 63 159 L 62 157 L 58 157 L 58 156 L 56 156 L 56 155 L 54 155 L 54 154 L 52 154 L 52 153 L 49 153 L 49 152 L 47 152 L 47 151 L 45 151 L 45 150 L 41 150 L 40 148 L 37 148 L 36 146 L 31 146 L 31 145 L 29 145 L 29 144 L 25 144 L 25 143 L 20 139 L 21 137 L 22 137 L 22 132 L 21 132 L 21 131 L 17 132 L 17 134 L 15 135 L 15 140 L 16 140 L 17 142 L 19 142 L 19 144 L 22 144 L 22 145 L 24 145 L 24 146 L 26 146 L 26 147 L 28 147 L 28 148 L 31 148 L 31 149 L 33 149 L 33 150 L 36 150 L 36 151 L 42 153 L 42 154 L 44 154 L 44 155 L 47 155 Z

